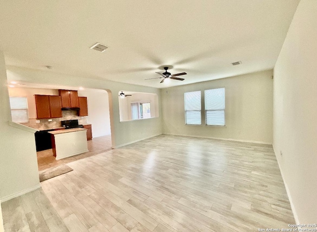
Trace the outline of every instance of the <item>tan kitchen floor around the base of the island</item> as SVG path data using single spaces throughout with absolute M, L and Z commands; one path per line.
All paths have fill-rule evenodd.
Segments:
M 87 141 L 87 143 L 88 152 L 60 160 L 55 159 L 52 149 L 38 151 L 37 157 L 39 171 L 111 150 L 111 135 L 93 138 L 92 140 Z

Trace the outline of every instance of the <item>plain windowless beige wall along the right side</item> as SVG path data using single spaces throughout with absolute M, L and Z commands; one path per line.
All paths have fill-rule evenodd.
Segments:
M 273 147 L 300 224 L 317 223 L 316 63 L 317 1 L 302 0 L 274 68 L 273 91 Z

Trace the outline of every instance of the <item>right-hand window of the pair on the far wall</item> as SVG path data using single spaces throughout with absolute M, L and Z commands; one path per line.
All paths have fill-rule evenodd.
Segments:
M 225 125 L 224 88 L 205 91 L 206 125 Z

